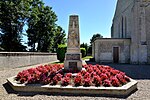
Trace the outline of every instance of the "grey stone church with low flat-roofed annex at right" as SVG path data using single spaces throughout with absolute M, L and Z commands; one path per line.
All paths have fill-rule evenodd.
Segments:
M 150 0 L 118 0 L 111 38 L 92 47 L 96 62 L 150 64 Z

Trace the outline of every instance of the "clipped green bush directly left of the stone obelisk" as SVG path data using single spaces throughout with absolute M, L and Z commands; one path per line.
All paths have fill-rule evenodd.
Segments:
M 58 46 L 57 49 L 57 58 L 60 62 L 63 62 L 65 59 L 65 53 L 67 51 L 67 46 L 64 44 L 61 44 Z

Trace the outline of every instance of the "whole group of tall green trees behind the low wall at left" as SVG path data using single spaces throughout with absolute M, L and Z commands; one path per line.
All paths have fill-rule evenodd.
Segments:
M 21 42 L 27 25 L 30 51 L 55 52 L 58 44 L 65 43 L 65 32 L 56 21 L 55 12 L 43 0 L 1 0 L 0 47 L 5 51 L 25 51 Z

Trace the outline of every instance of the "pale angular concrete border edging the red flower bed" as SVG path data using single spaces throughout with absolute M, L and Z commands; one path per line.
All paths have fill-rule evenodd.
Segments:
M 131 82 L 122 87 L 62 87 L 60 85 L 40 85 L 40 84 L 17 84 L 14 77 L 7 79 L 8 84 L 13 90 L 18 92 L 39 92 L 39 93 L 63 93 L 63 94 L 79 94 L 79 95 L 98 95 L 98 96 L 117 96 L 126 97 L 137 90 L 137 81 L 131 79 Z

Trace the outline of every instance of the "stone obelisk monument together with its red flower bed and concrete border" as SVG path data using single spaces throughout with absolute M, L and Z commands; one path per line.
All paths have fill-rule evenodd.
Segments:
M 19 72 L 16 76 L 7 79 L 9 85 L 15 91 L 128 96 L 137 89 L 137 81 L 129 78 L 119 70 L 98 64 L 82 65 L 78 15 L 69 17 L 68 30 L 64 65 L 40 65 Z M 85 70 L 82 70 L 82 67 Z M 62 69 L 69 72 L 63 72 Z M 74 72 L 76 72 L 75 76 L 72 75 Z

